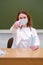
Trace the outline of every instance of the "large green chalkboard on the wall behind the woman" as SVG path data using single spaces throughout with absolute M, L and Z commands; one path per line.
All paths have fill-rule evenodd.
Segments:
M 33 27 L 43 29 L 43 0 L 0 0 L 0 29 L 9 29 L 22 9 L 31 15 Z

